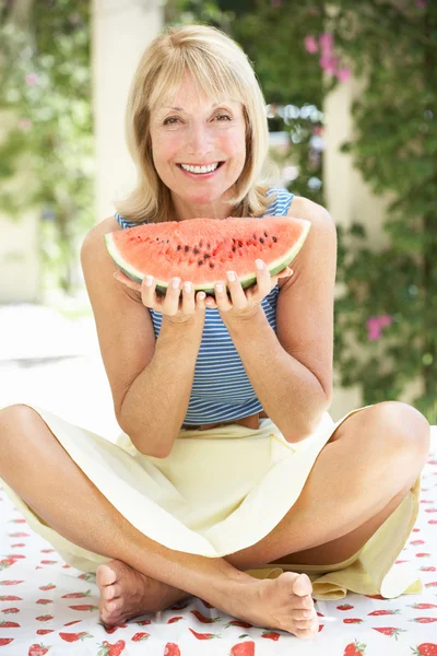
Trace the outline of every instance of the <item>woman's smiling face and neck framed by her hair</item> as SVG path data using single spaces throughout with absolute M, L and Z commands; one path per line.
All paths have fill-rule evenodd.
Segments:
M 157 174 L 170 189 L 180 220 L 228 215 L 229 208 L 226 210 L 221 201 L 227 198 L 246 161 L 241 103 L 223 97 L 213 106 L 211 99 L 198 97 L 186 75 L 170 102 L 164 101 L 151 112 L 150 129 Z M 188 172 L 181 166 L 217 164 L 211 173 Z

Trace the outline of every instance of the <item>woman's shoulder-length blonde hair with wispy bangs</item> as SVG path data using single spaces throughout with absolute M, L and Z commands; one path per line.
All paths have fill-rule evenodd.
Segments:
M 234 216 L 260 216 L 269 197 L 269 128 L 265 101 L 247 55 L 221 30 L 209 25 L 167 27 L 145 49 L 134 72 L 126 110 L 126 138 L 137 167 L 137 186 L 116 210 L 129 221 L 172 220 L 172 196 L 152 157 L 150 110 L 176 93 L 189 71 L 197 92 L 211 98 L 226 94 L 241 102 L 246 121 L 246 163 L 227 201 Z M 270 172 L 269 172 L 270 173 Z M 231 209 L 231 208 L 229 208 Z

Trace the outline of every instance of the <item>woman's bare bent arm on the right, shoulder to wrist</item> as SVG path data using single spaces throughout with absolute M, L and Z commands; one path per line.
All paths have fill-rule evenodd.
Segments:
M 307 199 L 293 199 L 288 213 L 311 221 L 311 230 L 280 290 L 277 337 L 262 307 L 245 320 L 226 320 L 226 313 L 223 320 L 265 412 L 287 442 L 300 442 L 332 398 L 336 234 L 328 212 Z

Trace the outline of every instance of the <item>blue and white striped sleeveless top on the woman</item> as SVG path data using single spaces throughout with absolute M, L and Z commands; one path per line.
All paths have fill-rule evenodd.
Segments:
M 268 207 L 264 215 L 285 216 L 293 194 L 285 189 L 269 189 L 268 196 L 276 199 Z M 127 221 L 118 212 L 115 218 L 123 230 L 140 225 Z M 142 223 L 147 223 L 144 221 Z M 280 289 L 276 284 L 262 300 L 265 317 L 276 332 L 276 301 Z M 149 308 L 155 338 L 160 335 L 161 313 Z M 196 361 L 191 396 L 184 423 L 201 425 L 241 419 L 262 411 L 262 406 L 247 377 L 241 359 L 222 321 L 218 309 L 205 307 L 202 341 Z

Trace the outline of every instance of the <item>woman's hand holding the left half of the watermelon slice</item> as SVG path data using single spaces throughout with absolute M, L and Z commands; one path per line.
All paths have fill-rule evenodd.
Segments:
M 156 294 L 155 280 L 152 276 L 144 277 L 141 284 L 128 278 L 122 271 L 116 271 L 114 278 L 130 289 L 138 291 L 146 307 L 162 313 L 174 324 L 188 324 L 199 311 L 205 309 L 205 293 L 198 292 L 194 296 L 192 283 L 188 283 L 190 289 L 187 290 L 187 282 L 182 286 L 180 278 L 172 278 L 165 296 Z M 150 280 L 151 284 L 147 284 Z M 176 286 L 173 285 L 174 281 L 177 282 Z

